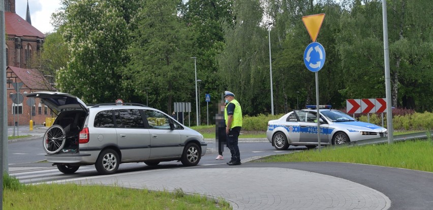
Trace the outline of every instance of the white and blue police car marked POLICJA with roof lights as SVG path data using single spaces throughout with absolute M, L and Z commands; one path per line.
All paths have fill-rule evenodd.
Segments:
M 304 145 L 307 148 L 318 145 L 317 108 L 307 108 L 293 110 L 280 119 L 268 122 L 266 137 L 272 146 L 278 150 L 285 150 L 289 145 Z M 319 106 L 321 145 L 342 144 L 388 135 L 383 127 L 357 121 L 346 113 L 330 108 L 330 105 Z

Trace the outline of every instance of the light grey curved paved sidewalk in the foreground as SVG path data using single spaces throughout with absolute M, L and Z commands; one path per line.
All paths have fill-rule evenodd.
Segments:
M 246 163 L 245 163 L 246 165 Z M 171 170 L 167 173 L 167 170 Z M 389 198 L 363 185 L 278 167 L 152 169 L 63 182 L 198 193 L 224 198 L 233 209 L 388 209 Z M 228 178 L 232 177 L 232 178 Z

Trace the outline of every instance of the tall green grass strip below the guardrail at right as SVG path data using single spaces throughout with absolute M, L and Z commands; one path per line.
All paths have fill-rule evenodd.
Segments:
M 325 147 L 294 154 L 270 156 L 256 162 L 346 162 L 433 172 L 433 142 L 403 141 L 352 147 Z

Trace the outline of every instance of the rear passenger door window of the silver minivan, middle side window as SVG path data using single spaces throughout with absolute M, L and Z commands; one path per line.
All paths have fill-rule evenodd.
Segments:
M 138 109 L 114 110 L 117 128 L 144 128 L 143 118 Z

